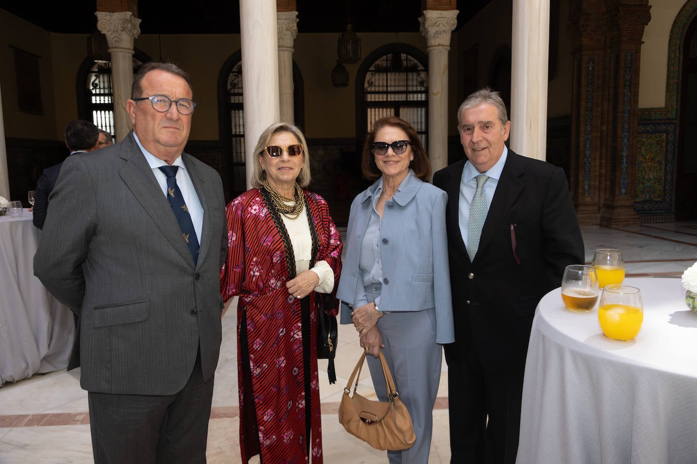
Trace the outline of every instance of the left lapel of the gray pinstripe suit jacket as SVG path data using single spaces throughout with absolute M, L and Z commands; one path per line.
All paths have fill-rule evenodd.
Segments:
M 153 219 L 153 222 L 167 241 L 171 243 L 171 246 L 193 266 L 194 259 L 186 243 L 181 238 L 181 229 L 174 217 L 174 212 L 171 210 L 167 198 L 162 194 L 158 181 L 155 179 L 155 175 L 153 175 L 150 165 L 145 160 L 137 143 L 135 143 L 132 134 L 129 134 L 123 140 L 119 156 L 125 161 L 123 167 L 118 171 L 123 182 L 133 192 L 135 198 Z M 203 202 L 201 202 L 201 205 L 204 205 Z

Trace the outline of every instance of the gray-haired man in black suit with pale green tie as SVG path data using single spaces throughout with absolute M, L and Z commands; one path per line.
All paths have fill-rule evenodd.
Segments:
M 514 463 L 535 307 L 583 263 L 583 239 L 563 170 L 505 146 L 498 93 L 467 97 L 458 129 L 466 159 L 434 175 L 448 194 L 451 462 Z

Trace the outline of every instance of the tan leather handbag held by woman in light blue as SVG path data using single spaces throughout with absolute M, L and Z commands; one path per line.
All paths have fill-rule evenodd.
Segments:
M 348 379 L 344 396 L 339 406 L 339 422 L 351 435 L 360 438 L 375 449 L 399 450 L 411 448 L 416 442 L 414 426 L 406 406 L 399 399 L 399 393 L 395 389 L 395 381 L 385 356 L 380 352 L 380 362 L 383 365 L 385 383 L 387 383 L 388 401 L 372 401 L 365 399 L 355 390 L 358 388 L 360 369 L 365 361 L 363 353 L 358 364 L 353 369 L 351 378 Z M 351 383 L 355 377 L 353 396 L 351 396 Z

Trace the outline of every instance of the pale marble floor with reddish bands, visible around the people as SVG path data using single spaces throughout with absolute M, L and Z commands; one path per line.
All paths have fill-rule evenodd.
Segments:
M 697 221 L 606 229 L 582 227 L 585 260 L 595 248 L 620 248 L 628 277 L 679 277 L 697 262 Z M 215 378 L 213 410 L 208 428 L 208 462 L 240 463 L 235 310 L 223 317 L 223 343 Z M 327 463 L 386 463 L 376 451 L 348 435 L 337 410 L 347 378 L 362 349 L 352 326 L 339 328 L 338 381 L 327 381 L 326 360 L 320 360 L 323 449 Z M 363 376 L 367 375 L 364 369 Z M 434 410 L 434 435 L 429 463 L 450 462 L 447 417 L 447 366 Z M 372 390 L 369 377 L 361 385 Z M 361 391 L 361 390 L 359 390 Z M 0 387 L 0 464 L 92 462 L 87 394 L 79 387 L 79 369 L 40 374 Z

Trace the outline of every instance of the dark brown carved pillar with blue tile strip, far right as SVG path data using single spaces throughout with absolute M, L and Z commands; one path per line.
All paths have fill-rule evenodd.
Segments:
M 604 198 L 600 225 L 638 225 L 636 198 L 636 136 L 638 129 L 639 65 L 644 28 L 651 19 L 648 0 L 606 0 L 608 12 L 608 86 L 614 92 L 605 101 L 608 126 L 604 170 Z

